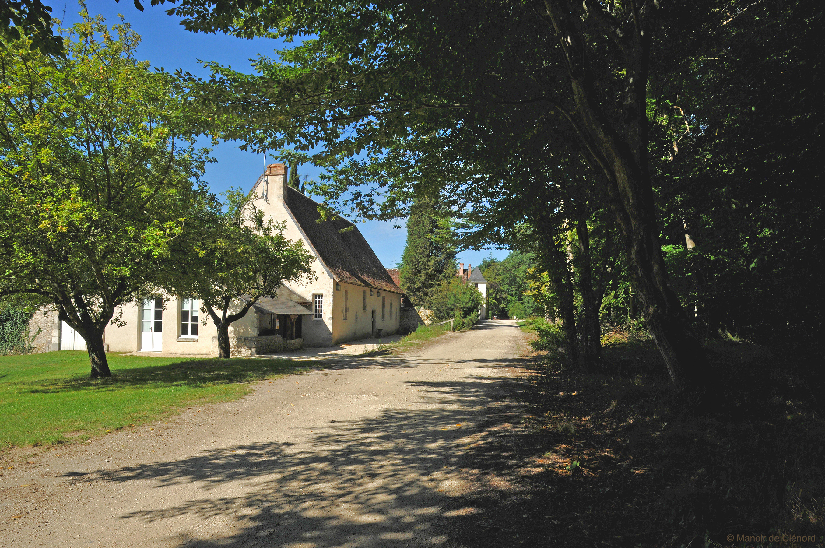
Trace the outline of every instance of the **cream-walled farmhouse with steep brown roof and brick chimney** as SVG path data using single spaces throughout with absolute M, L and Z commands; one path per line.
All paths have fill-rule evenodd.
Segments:
M 252 187 L 265 218 L 285 221 L 284 235 L 300 240 L 315 257 L 316 280 L 282 287 L 263 298 L 229 328 L 232 354 L 244 356 L 337 343 L 398 332 L 402 292 L 361 232 L 347 220 L 318 221 L 318 204 L 287 185 L 283 164 L 271 164 Z M 186 295 L 162 295 L 123 305 L 109 325 L 109 352 L 164 352 L 215 356 L 217 331 Z M 85 350 L 73 329 L 49 316 L 50 350 Z

